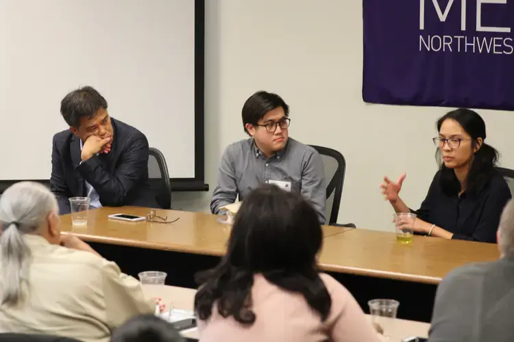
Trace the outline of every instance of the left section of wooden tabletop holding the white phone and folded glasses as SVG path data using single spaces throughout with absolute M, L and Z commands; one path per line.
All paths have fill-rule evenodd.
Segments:
M 125 213 L 146 216 L 150 209 L 142 207 L 104 207 L 90 210 L 87 226 L 73 226 L 71 215 L 62 215 L 62 231 L 71 232 L 85 241 L 121 246 L 173 250 L 194 254 L 221 256 L 230 235 L 231 226 L 218 222 L 216 215 L 188 211 L 156 210 L 169 221 L 126 222 L 112 220 L 108 215 Z M 323 236 L 336 235 L 352 228 L 323 226 Z

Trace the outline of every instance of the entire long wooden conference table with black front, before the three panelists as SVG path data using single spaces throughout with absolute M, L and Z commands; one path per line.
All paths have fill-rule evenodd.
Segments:
M 167 285 L 195 288 L 195 273 L 215 266 L 225 252 L 231 226 L 216 215 L 165 211 L 157 215 L 177 222 L 123 222 L 108 215 L 145 216 L 147 208 L 121 207 L 91 210 L 87 226 L 72 226 L 62 216 L 62 231 L 71 232 L 124 272 L 157 269 L 168 273 Z M 429 321 L 437 284 L 455 267 L 474 261 L 498 259 L 493 244 L 450 241 L 415 236 L 413 244 L 397 244 L 394 233 L 323 226 L 323 271 L 339 280 L 363 309 L 372 298 L 400 300 L 399 317 Z

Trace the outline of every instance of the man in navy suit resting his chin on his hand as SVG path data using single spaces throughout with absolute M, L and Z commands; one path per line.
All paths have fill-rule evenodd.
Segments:
M 67 94 L 61 114 L 70 128 L 53 136 L 50 179 L 60 213 L 70 212 L 76 196 L 89 197 L 92 208 L 157 207 L 143 133 L 111 118 L 106 99 L 89 86 Z

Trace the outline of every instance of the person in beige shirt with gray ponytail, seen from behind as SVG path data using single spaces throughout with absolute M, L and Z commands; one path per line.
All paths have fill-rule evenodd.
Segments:
M 0 332 L 107 342 L 127 319 L 153 313 L 138 280 L 73 235 L 43 185 L 16 183 L 0 197 Z

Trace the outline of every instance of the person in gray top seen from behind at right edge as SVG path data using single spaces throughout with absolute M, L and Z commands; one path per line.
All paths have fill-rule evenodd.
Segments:
M 450 272 L 437 289 L 430 342 L 514 341 L 514 202 L 497 232 L 500 259 Z

